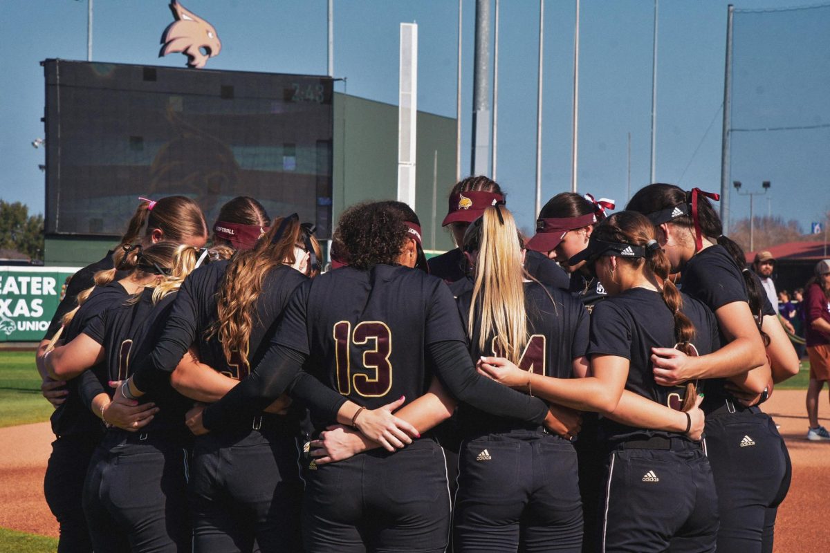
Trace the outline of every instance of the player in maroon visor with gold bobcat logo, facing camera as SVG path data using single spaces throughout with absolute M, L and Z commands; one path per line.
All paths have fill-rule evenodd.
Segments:
M 505 196 L 499 185 L 487 177 L 467 177 L 452 187 L 449 209 L 441 226 L 449 226 L 456 244 L 461 244 L 464 231 L 476 221 L 487 207 L 505 205 Z M 429 273 L 447 284 L 465 279 L 469 266 L 461 248 L 455 248 L 428 261 Z M 528 250 L 525 255 L 525 269 L 542 284 L 567 290 L 568 275 L 554 261 L 544 255 Z

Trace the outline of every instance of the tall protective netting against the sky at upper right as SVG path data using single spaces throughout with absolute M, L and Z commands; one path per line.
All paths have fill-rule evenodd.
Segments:
M 735 9 L 731 93 L 730 187 L 740 181 L 746 192 L 760 192 L 770 181 L 774 215 L 823 220 L 830 201 L 830 4 Z M 748 216 L 749 201 L 732 198 L 731 213 Z

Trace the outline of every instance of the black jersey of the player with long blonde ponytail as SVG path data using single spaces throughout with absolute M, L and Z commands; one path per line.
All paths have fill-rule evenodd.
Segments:
M 464 328 L 469 321 L 472 290 L 467 289 L 456 298 Z M 564 290 L 525 283 L 525 312 L 530 338 L 522 352 L 519 368 L 554 378 L 573 376 L 573 361 L 588 351 L 588 311 L 577 298 Z M 481 356 L 501 356 L 495 338 L 488 339 L 485 351 L 479 348 L 481 315 L 475 314 L 473 336 L 468 341 L 470 355 L 475 361 Z M 529 424 L 517 420 L 505 420 L 487 415 L 470 406 L 459 409 L 461 431 L 466 435 L 495 433 L 516 428 L 528 428 Z

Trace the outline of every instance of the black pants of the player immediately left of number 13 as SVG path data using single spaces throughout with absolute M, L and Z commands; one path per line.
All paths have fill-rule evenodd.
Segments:
M 298 457 L 294 435 L 266 426 L 199 436 L 190 480 L 193 551 L 300 551 Z

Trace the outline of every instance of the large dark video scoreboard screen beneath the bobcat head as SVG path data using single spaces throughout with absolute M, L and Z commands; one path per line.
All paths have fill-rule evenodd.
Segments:
M 51 60 L 46 232 L 120 235 L 139 196 L 235 196 L 330 235 L 332 80 Z

